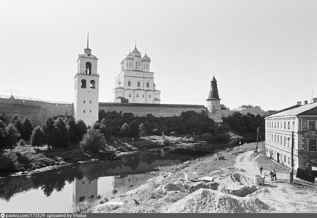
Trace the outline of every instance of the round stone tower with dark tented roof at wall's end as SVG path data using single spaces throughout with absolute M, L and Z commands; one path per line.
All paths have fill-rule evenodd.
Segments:
M 207 113 L 210 119 L 213 119 L 216 123 L 221 123 L 223 120 L 221 119 L 221 106 L 220 106 L 220 98 L 217 87 L 217 80 L 215 76 L 213 76 L 210 85 L 209 96 L 207 99 Z

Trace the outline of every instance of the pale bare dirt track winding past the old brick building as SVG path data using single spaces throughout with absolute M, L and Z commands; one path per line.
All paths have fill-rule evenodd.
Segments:
M 260 174 L 258 165 L 255 159 L 259 156 L 251 158 L 254 151 L 241 153 L 236 158 L 235 167 L 246 170 L 241 174 L 253 180 L 254 175 Z M 310 193 L 303 193 L 301 190 L 296 190 L 292 185 L 288 184 L 288 174 L 278 173 L 277 181 L 271 182 L 269 177 L 270 169 L 264 171 L 265 184 L 268 192 L 262 192 L 258 197 L 263 202 L 275 208 L 277 213 L 316 213 L 317 196 Z M 263 173 L 263 172 L 262 172 Z M 296 181 L 297 178 L 294 178 Z

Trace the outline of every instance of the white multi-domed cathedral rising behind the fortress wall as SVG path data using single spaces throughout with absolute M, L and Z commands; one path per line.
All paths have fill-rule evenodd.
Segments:
M 120 73 L 115 78 L 113 103 L 159 104 L 161 91 L 155 89 L 151 59 L 141 58 L 137 46 L 120 62 Z

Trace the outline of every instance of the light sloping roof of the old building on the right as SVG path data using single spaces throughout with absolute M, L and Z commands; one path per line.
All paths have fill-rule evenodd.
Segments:
M 277 117 L 277 116 L 292 116 L 292 115 L 300 115 L 309 110 L 317 108 L 317 102 L 305 105 L 293 105 L 291 107 L 279 110 L 271 115 L 268 115 L 265 118 Z M 317 113 L 316 113 L 317 115 Z

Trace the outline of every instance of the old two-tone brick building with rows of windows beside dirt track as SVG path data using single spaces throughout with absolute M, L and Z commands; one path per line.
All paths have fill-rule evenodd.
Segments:
M 292 132 L 294 131 L 294 169 L 310 167 L 317 159 L 317 99 L 296 105 L 265 117 L 265 145 L 269 157 L 291 166 Z

